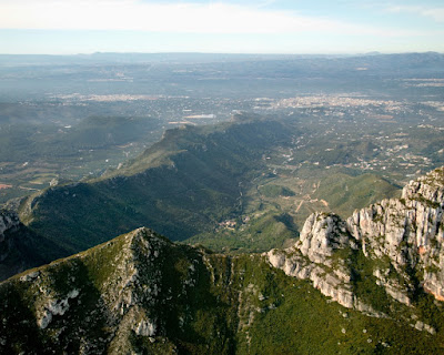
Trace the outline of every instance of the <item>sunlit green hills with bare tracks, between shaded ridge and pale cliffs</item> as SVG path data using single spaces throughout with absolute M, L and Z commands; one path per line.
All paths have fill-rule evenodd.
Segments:
M 188 239 L 216 252 L 265 252 L 289 246 L 314 211 L 347 216 L 400 187 L 376 174 L 350 175 L 341 170 L 299 170 L 294 174 L 261 176 L 243 194 L 242 214 L 214 232 Z

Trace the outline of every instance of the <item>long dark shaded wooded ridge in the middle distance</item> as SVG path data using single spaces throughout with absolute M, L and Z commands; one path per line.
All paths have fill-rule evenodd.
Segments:
M 266 150 L 289 139 L 282 123 L 265 120 L 170 130 L 102 179 L 30 196 L 20 219 L 69 253 L 140 225 L 184 240 L 235 212 L 239 184 L 256 173 Z

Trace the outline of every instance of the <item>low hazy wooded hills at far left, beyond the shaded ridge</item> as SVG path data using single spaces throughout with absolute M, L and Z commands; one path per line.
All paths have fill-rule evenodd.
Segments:
M 12 124 L 0 130 L 0 162 L 79 159 L 84 150 L 111 150 L 147 139 L 159 122 L 150 118 L 89 116 L 71 126 Z M 51 162 L 51 160 L 50 160 Z

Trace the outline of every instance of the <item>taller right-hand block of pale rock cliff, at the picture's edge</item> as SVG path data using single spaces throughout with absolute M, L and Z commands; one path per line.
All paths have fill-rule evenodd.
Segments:
M 420 287 L 444 301 L 443 196 L 444 169 L 438 169 L 410 182 L 400 200 L 384 200 L 347 220 L 366 256 L 386 261 L 374 270 L 380 283 L 405 304 Z

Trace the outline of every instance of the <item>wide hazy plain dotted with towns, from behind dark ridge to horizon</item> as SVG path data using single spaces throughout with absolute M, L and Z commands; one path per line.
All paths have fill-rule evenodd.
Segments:
M 100 176 L 169 128 L 239 112 L 299 122 L 289 168 L 340 164 L 404 184 L 443 163 L 438 53 L 160 58 L 0 58 L 0 184 L 12 186 L 0 203 Z M 362 140 L 372 148 L 349 159 Z

